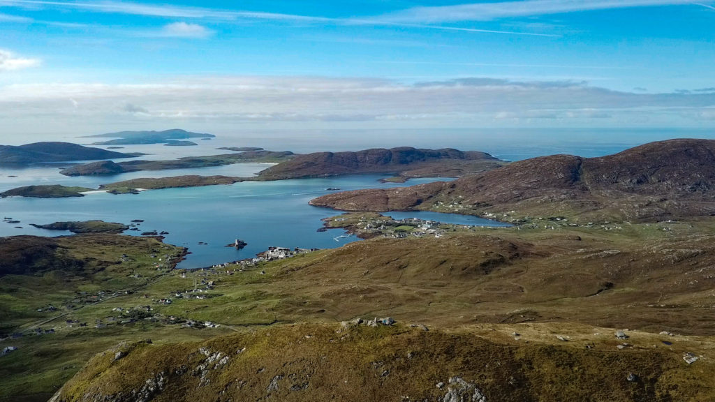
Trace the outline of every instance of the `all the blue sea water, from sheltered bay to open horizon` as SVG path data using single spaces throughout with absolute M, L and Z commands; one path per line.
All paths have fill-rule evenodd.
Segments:
M 196 147 L 164 147 L 161 144 L 126 145 L 119 152 L 144 152 L 134 159 L 167 160 L 184 156 L 230 153 L 217 147 L 265 147 L 272 150 L 317 152 L 369 147 L 455 147 L 480 150 L 504 160 L 557 153 L 597 157 L 620 152 L 645 142 L 675 137 L 713 138 L 710 130 L 687 129 L 440 129 L 440 130 L 343 130 L 340 132 L 256 132 L 251 136 L 222 136 L 197 140 Z M 39 139 L 38 139 L 39 140 Z M 87 143 L 94 139 L 62 139 Z M 16 139 L 20 141 L 20 139 Z M 9 143 L 5 141 L 6 143 Z M 20 142 L 18 142 L 19 144 Z M 106 147 L 105 147 L 106 148 Z M 120 160 L 115 160 L 119 162 Z M 0 191 L 24 185 L 61 184 L 96 188 L 101 184 L 137 177 L 177 175 L 227 175 L 247 177 L 267 164 L 246 163 L 183 170 L 133 172 L 111 177 L 65 177 L 57 167 L 0 167 Z M 16 176 L 16 177 L 11 177 Z M 85 197 L 34 199 L 9 197 L 0 200 L 0 215 L 19 224 L 0 222 L 0 236 L 66 235 L 69 232 L 41 230 L 29 223 L 47 224 L 65 220 L 105 220 L 127 224 L 141 219 L 141 231 L 167 231 L 166 242 L 189 247 L 192 253 L 180 268 L 199 268 L 243 258 L 252 258 L 269 246 L 339 247 L 356 241 L 340 237 L 342 230 L 316 232 L 321 219 L 340 212 L 311 207 L 309 200 L 327 194 L 329 187 L 341 190 L 390 188 L 440 179 L 410 180 L 404 184 L 380 183 L 385 176 L 360 175 L 278 182 L 241 182 L 235 185 L 152 190 L 139 195 L 92 193 Z M 434 212 L 394 212 L 401 219 L 419 217 L 458 225 L 501 225 L 478 217 Z M 16 228 L 16 226 L 21 227 Z M 127 232 L 137 235 L 139 232 Z M 225 247 L 236 238 L 248 243 L 243 250 Z M 199 242 L 208 243 L 199 245 Z

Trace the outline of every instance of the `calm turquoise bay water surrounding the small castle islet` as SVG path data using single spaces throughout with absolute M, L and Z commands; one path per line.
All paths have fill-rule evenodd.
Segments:
M 410 180 L 403 185 L 380 183 L 380 175 L 242 182 L 235 185 L 152 190 L 139 195 L 92 193 L 80 198 L 36 199 L 9 197 L 0 200 L 0 214 L 21 221 L 0 222 L 0 236 L 69 234 L 40 230 L 30 223 L 46 224 L 66 220 L 105 220 L 128 224 L 144 220 L 145 230 L 165 230 L 166 242 L 189 247 L 192 253 L 179 268 L 200 268 L 242 258 L 251 258 L 269 246 L 339 247 L 358 240 L 340 238 L 342 230 L 317 232 L 321 219 L 340 212 L 312 207 L 308 201 L 327 194 L 328 187 L 342 190 L 388 188 L 415 185 L 438 179 Z M 423 214 L 425 212 L 418 212 Z M 408 214 L 410 216 L 418 216 Z M 444 215 L 444 214 L 442 214 Z M 468 217 L 448 215 L 457 220 Z M 433 219 L 433 217 L 424 217 Z M 472 218 L 478 219 L 478 218 Z M 444 220 L 444 219 L 440 219 Z M 455 222 L 462 224 L 463 222 Z M 480 222 L 479 225 L 488 222 Z M 465 223 L 467 224 L 467 223 Z M 477 223 L 469 223 L 477 224 Z M 21 226 L 17 229 L 15 226 Z M 127 232 L 137 235 L 139 232 Z M 240 251 L 225 245 L 240 238 L 248 245 Z M 206 242 L 207 245 L 199 245 Z

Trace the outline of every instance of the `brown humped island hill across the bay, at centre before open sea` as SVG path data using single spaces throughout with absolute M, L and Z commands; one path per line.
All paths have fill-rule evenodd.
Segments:
M 358 152 L 316 152 L 262 172 L 262 180 L 295 179 L 363 173 L 393 173 L 405 177 L 459 177 L 501 166 L 500 160 L 484 152 L 458 149 L 365 149 Z

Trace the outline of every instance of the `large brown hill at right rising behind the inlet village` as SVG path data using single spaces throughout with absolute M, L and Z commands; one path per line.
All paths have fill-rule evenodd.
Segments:
M 715 213 L 715 140 L 673 139 L 616 155 L 553 155 L 449 183 L 340 192 L 312 205 L 350 211 L 438 210 L 662 220 Z

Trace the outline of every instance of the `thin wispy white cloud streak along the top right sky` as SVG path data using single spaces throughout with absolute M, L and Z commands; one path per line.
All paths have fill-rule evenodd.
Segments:
M 488 21 L 519 16 L 563 14 L 603 9 L 693 5 L 689 0 L 526 0 L 473 3 L 455 6 L 415 7 L 383 16 L 385 21 L 434 24 L 459 21 Z M 707 4 L 696 4 L 711 8 Z

